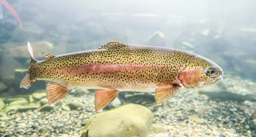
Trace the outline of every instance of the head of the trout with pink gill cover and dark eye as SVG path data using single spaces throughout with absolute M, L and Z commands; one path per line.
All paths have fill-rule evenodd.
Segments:
M 186 88 L 200 88 L 217 84 L 223 78 L 223 70 L 204 57 L 191 60 L 178 75 L 178 80 Z

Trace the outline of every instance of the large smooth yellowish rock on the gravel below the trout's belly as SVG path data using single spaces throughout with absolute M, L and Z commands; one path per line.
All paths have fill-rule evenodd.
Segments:
M 81 137 L 147 137 L 152 123 L 150 109 L 131 103 L 90 117 Z

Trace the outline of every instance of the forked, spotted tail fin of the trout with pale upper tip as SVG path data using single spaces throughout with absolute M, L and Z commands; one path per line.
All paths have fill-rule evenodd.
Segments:
M 33 83 L 30 76 L 30 68 L 31 68 L 31 63 L 33 63 L 33 61 L 36 61 L 35 58 L 33 57 L 33 50 L 29 42 L 28 42 L 28 50 L 29 50 L 29 56 L 31 59 L 31 62 L 29 64 L 29 73 L 26 74 L 26 76 L 23 78 L 23 80 L 20 83 L 20 88 L 24 87 L 25 89 L 28 89 Z

